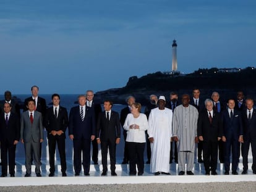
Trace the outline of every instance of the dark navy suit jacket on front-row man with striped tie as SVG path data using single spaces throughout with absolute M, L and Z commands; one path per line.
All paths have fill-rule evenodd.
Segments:
M 85 119 L 80 117 L 80 107 L 72 107 L 69 113 L 69 135 L 74 135 L 74 140 L 90 140 L 96 135 L 95 112 L 92 107 L 85 105 Z

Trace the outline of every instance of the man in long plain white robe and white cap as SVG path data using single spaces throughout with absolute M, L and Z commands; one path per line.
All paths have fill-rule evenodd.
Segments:
M 151 143 L 150 171 L 170 175 L 170 142 L 172 136 L 173 111 L 165 108 L 165 97 L 158 99 L 158 108 L 152 109 L 148 118 L 148 139 Z

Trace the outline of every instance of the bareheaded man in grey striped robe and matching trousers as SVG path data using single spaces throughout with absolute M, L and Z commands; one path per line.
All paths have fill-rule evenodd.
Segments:
M 185 174 L 187 159 L 187 175 L 194 175 L 195 143 L 197 138 L 197 108 L 189 104 L 188 94 L 182 95 L 182 105 L 174 109 L 173 115 L 173 140 L 177 141 L 179 175 Z

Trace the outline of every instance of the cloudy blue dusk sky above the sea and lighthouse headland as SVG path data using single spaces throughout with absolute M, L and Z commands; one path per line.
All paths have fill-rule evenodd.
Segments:
M 256 66 L 256 1 L 0 0 L 0 94 L 85 93 L 171 70 Z

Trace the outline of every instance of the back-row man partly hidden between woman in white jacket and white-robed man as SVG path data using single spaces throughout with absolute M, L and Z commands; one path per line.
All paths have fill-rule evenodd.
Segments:
M 158 102 L 157 96 L 155 94 L 150 94 L 150 102 L 149 104 L 147 104 L 144 111 L 144 114 L 147 116 L 147 119 L 149 117 L 151 109 L 155 109 L 157 107 L 157 102 Z M 146 162 L 146 164 L 150 164 L 151 148 L 150 148 L 150 141 L 148 140 L 148 131 L 145 131 L 145 135 L 146 135 L 146 142 L 147 142 L 147 157 L 148 157 L 148 161 Z

